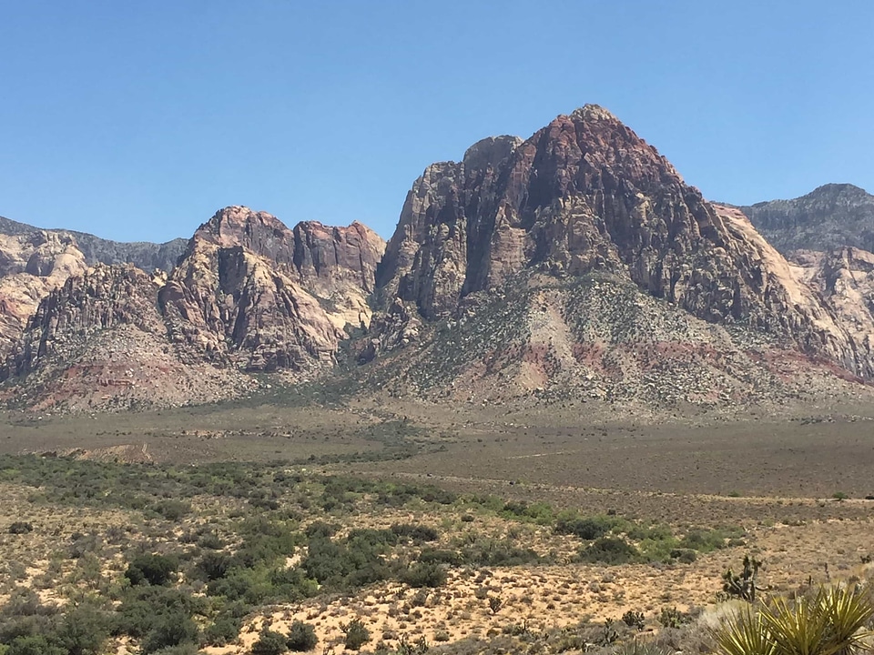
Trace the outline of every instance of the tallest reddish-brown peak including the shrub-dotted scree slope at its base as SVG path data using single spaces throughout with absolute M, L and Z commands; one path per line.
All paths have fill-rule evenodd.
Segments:
M 362 359 L 410 342 L 391 337 L 404 335 L 400 302 L 432 331 L 392 375 L 409 367 L 411 388 L 438 394 L 491 380 L 499 395 L 570 387 L 710 402 L 789 393 L 788 378 L 806 368 L 826 381 L 872 374 L 862 335 L 747 217 L 706 202 L 598 106 L 429 166 L 377 291 L 391 311 L 374 325 L 391 328 L 371 336 Z

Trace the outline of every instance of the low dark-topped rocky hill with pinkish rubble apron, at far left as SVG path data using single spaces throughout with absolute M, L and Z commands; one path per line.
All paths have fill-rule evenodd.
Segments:
M 4 377 L 25 384 L 6 398 L 75 412 L 203 403 L 251 390 L 236 371 L 178 358 L 158 310 L 163 282 L 130 265 L 98 264 L 69 277 L 16 342 Z

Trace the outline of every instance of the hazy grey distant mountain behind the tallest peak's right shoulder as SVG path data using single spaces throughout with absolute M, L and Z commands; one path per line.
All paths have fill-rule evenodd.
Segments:
M 874 196 L 849 184 L 828 184 L 792 200 L 740 207 L 782 253 L 856 247 L 874 251 Z

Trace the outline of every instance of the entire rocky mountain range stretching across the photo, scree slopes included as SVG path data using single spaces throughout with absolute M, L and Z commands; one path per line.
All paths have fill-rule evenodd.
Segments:
M 2 219 L 0 393 L 72 412 L 234 398 L 264 375 L 640 411 L 864 395 L 872 200 L 710 203 L 589 105 L 428 166 L 388 243 L 246 207 L 161 245 Z

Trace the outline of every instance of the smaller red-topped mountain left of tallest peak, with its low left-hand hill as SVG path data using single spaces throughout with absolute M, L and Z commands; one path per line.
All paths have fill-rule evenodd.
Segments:
M 384 242 L 367 227 L 324 227 L 227 207 L 188 240 L 178 266 L 149 275 L 98 264 L 49 293 L 6 356 L 10 396 L 67 410 L 232 398 L 246 372 L 310 378 L 366 328 Z

